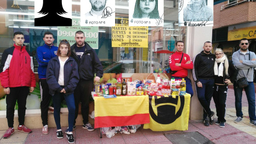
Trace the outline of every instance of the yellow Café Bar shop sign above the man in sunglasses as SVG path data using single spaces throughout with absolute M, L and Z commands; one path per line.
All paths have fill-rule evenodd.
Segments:
M 228 27 L 228 41 L 256 38 L 256 21 Z

